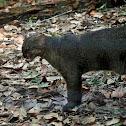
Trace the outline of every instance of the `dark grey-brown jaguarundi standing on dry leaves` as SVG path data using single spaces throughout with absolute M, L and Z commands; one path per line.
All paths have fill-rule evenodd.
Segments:
M 81 103 L 81 75 L 94 70 L 126 74 L 126 26 L 81 35 L 49 37 L 36 33 L 25 38 L 23 56 L 46 59 L 67 83 L 68 111 Z

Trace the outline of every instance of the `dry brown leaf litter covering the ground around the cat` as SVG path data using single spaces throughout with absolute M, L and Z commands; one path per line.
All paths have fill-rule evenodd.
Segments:
M 30 1 L 28 1 L 30 2 Z M 66 83 L 46 61 L 22 57 L 22 29 L 49 36 L 82 34 L 126 22 L 125 6 L 107 11 L 71 12 L 46 21 L 7 24 L 0 29 L 0 124 L 19 126 L 126 125 L 126 76 L 110 71 L 82 75 L 82 104 L 68 113 Z M 32 29 L 32 30 L 31 30 Z M 37 30 L 39 29 L 39 30 Z

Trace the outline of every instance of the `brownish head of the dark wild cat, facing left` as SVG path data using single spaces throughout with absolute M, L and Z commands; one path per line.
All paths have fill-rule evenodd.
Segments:
M 24 58 L 33 60 L 36 56 L 43 58 L 44 56 L 44 44 L 45 36 L 44 35 L 33 35 L 31 37 L 25 37 L 24 43 L 22 45 L 22 52 Z

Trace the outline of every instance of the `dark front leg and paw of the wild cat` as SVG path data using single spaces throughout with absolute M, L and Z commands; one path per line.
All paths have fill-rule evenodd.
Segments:
M 67 95 L 68 103 L 63 107 L 63 111 L 68 111 L 81 103 L 81 75 L 76 72 L 67 74 Z

